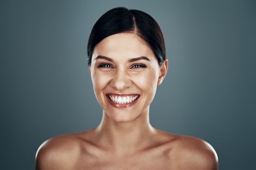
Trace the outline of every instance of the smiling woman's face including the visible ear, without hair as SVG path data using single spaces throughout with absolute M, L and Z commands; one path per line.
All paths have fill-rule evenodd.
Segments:
M 167 71 L 152 49 L 133 33 L 118 33 L 94 48 L 90 75 L 99 104 L 110 119 L 126 123 L 147 114 Z

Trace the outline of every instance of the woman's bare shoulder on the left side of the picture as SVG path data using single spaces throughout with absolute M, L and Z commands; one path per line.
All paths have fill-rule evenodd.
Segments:
M 45 141 L 36 152 L 36 170 L 65 170 L 81 155 L 83 139 L 79 134 L 61 135 Z

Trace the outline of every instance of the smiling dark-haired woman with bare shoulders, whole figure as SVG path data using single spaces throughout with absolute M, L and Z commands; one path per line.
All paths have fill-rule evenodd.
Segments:
M 168 69 L 162 31 L 150 15 L 126 8 L 103 14 L 90 34 L 88 65 L 101 123 L 47 140 L 36 170 L 218 169 L 207 142 L 149 123 L 149 105 Z

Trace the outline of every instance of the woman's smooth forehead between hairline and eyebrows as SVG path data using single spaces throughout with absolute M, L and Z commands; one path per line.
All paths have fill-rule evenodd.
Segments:
M 134 33 L 118 33 L 103 39 L 94 48 L 92 58 L 98 55 L 118 58 L 153 57 L 152 49 Z

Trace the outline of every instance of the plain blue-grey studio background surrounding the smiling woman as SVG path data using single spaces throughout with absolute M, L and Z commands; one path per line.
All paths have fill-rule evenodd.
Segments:
M 255 169 L 254 0 L 1 0 L 0 169 L 34 169 L 43 141 L 99 124 L 86 44 L 120 6 L 152 15 L 165 37 L 169 70 L 151 124 L 208 141 L 220 170 Z

